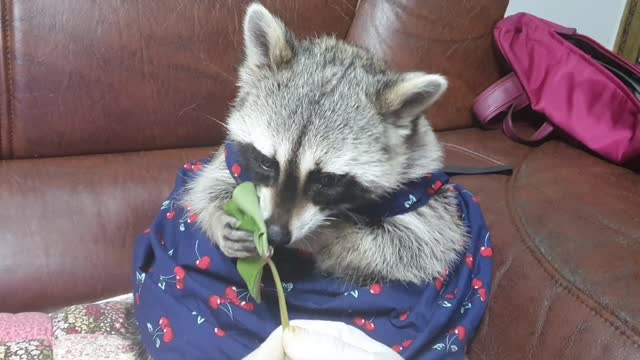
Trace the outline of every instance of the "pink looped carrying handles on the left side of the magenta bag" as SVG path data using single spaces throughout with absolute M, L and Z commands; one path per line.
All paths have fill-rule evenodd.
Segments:
M 507 112 L 502 123 L 502 130 L 511 140 L 523 144 L 535 144 L 548 137 L 554 130 L 546 121 L 532 135 L 519 134 L 513 126 L 513 113 L 529 105 L 529 98 L 515 73 L 498 80 L 480 94 L 473 104 L 473 112 L 485 128 L 496 128 L 498 115 Z

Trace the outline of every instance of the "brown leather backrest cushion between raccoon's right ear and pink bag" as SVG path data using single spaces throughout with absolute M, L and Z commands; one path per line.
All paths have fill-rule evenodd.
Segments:
M 435 129 L 472 124 L 473 99 L 500 78 L 492 29 L 508 0 L 362 0 L 347 40 L 403 71 L 442 73 L 449 89 L 429 112 Z

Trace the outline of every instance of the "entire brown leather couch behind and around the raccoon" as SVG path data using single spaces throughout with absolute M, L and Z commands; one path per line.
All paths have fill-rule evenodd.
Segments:
M 132 242 L 176 170 L 224 134 L 247 0 L 1 0 L 0 312 L 124 293 Z M 440 72 L 429 114 L 495 242 L 474 359 L 640 359 L 640 177 L 559 141 L 473 125 L 501 75 L 507 0 L 271 0 L 300 35 L 333 33 L 401 70 Z

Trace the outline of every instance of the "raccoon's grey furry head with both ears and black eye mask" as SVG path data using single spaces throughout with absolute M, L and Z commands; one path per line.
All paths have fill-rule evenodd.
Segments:
M 296 40 L 261 5 L 249 7 L 244 31 L 229 139 L 273 244 L 308 238 L 441 166 L 422 113 L 444 92 L 443 77 L 388 71 L 335 39 Z

